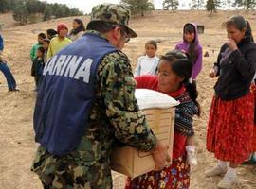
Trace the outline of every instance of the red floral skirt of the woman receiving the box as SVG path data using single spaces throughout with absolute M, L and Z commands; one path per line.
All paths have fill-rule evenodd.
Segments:
M 161 171 L 151 171 L 135 179 L 127 179 L 125 189 L 188 189 L 190 165 L 186 156 L 181 156 Z

